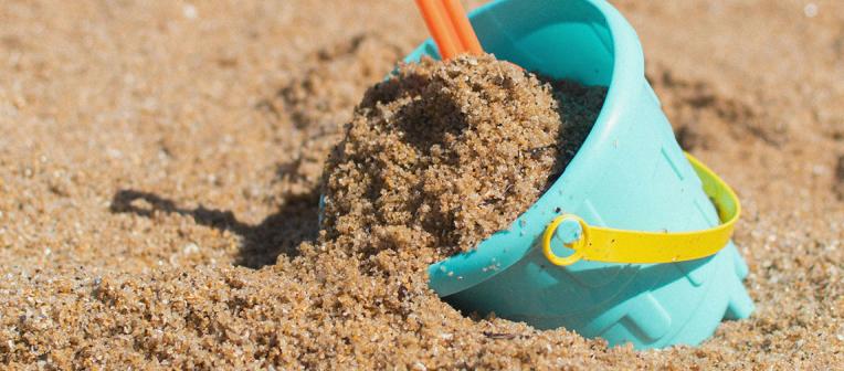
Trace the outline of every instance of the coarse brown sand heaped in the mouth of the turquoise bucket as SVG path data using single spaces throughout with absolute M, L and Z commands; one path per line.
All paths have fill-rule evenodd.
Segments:
M 490 55 L 402 66 L 367 92 L 328 160 L 325 236 L 437 257 L 474 248 L 559 177 L 604 93 Z

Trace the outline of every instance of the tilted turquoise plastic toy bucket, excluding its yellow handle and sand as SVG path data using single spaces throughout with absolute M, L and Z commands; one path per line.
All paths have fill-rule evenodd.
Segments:
M 675 264 L 559 267 L 541 253 L 542 231 L 561 213 L 641 231 L 719 223 L 645 80 L 642 46 L 623 17 L 601 0 L 503 0 L 470 17 L 484 50 L 498 59 L 610 89 L 559 180 L 507 231 L 431 265 L 431 287 L 464 311 L 636 348 L 697 344 L 722 318 L 749 316 L 747 266 L 731 242 L 711 257 Z M 437 57 L 430 40 L 407 61 L 425 54 Z

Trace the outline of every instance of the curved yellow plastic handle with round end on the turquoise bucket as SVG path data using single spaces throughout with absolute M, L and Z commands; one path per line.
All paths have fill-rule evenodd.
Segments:
M 713 200 L 721 224 L 694 232 L 642 232 L 615 230 L 587 224 L 572 214 L 557 216 L 542 234 L 542 252 L 556 265 L 571 265 L 580 259 L 605 263 L 655 264 L 693 261 L 714 255 L 730 236 L 741 213 L 736 192 L 709 168 L 686 153 L 692 167 L 700 178 L 704 192 Z M 551 250 L 551 237 L 563 221 L 577 221 L 581 233 L 577 241 L 566 244 L 574 251 L 569 256 L 558 256 Z

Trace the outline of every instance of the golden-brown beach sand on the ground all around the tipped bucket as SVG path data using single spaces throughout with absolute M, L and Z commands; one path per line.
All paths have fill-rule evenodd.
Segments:
M 464 318 L 413 275 L 344 290 L 308 284 L 360 272 L 348 261 L 308 271 L 302 262 L 319 252 L 300 243 L 318 236 L 321 169 L 342 124 L 424 38 L 411 2 L 7 1 L 0 361 L 843 364 L 844 6 L 616 6 L 642 38 L 647 77 L 681 142 L 742 200 L 735 240 L 750 266 L 751 318 L 722 324 L 697 348 L 637 352 L 565 329 Z M 378 285 L 387 282 L 402 284 Z M 354 315 L 362 296 L 382 298 L 363 308 L 371 317 Z M 397 312 L 408 316 L 387 315 Z

